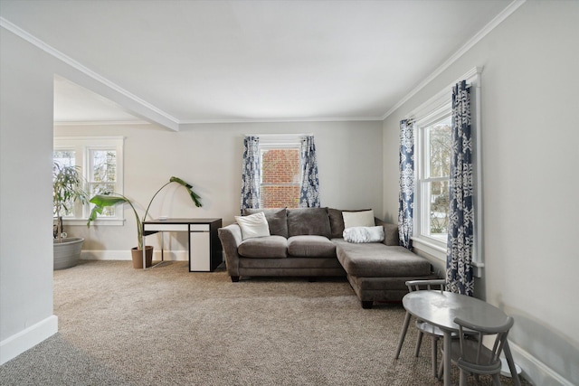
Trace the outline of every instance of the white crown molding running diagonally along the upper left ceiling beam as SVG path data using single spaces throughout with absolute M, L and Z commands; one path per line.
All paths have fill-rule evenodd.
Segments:
M 144 99 L 138 98 L 138 96 L 130 93 L 128 90 L 121 88 L 118 84 L 113 83 L 112 81 L 104 78 L 100 74 L 96 73 L 95 71 L 90 70 L 88 67 L 81 64 L 79 61 L 75 61 L 70 56 L 64 54 L 63 52 L 58 51 L 52 45 L 43 42 L 42 40 L 38 39 L 36 36 L 33 36 L 31 33 L 27 33 L 22 28 L 18 27 L 17 25 L 7 21 L 4 17 L 0 16 L 0 27 L 5 28 L 5 30 L 14 33 L 16 36 L 24 39 L 26 42 L 30 42 L 34 46 L 38 47 L 39 49 L 43 50 L 43 52 L 47 52 L 48 54 L 52 55 L 54 58 L 63 61 L 64 63 L 71 66 L 73 69 L 81 71 L 86 76 L 90 77 L 93 80 L 97 80 L 98 82 L 104 84 L 105 86 L 109 87 L 109 89 L 113 89 L 118 92 L 120 95 L 124 96 L 125 98 L 133 100 L 138 105 L 147 108 L 159 116 L 166 118 L 170 122 L 174 124 L 175 127 L 178 128 L 179 121 L 177 118 L 170 116 L 165 111 L 151 105 Z

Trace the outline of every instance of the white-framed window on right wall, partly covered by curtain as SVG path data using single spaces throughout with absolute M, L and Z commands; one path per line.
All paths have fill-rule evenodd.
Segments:
M 480 69 L 465 74 L 470 84 L 471 135 L 474 198 L 474 246 L 472 265 L 481 276 L 484 267 L 482 253 L 482 192 L 480 155 Z M 449 222 L 449 184 L 451 173 L 451 86 L 416 108 L 414 120 L 415 177 L 413 247 L 446 260 L 447 226 Z

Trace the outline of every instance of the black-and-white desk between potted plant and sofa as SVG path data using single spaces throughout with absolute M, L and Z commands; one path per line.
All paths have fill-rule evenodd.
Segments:
M 222 219 L 164 219 L 143 222 L 143 246 L 148 235 L 157 232 L 187 232 L 189 253 L 189 272 L 210 272 L 223 262 L 221 241 L 217 230 L 222 227 Z M 161 262 L 163 257 L 163 238 L 161 237 Z M 159 263 L 160 264 L 160 263 Z M 143 269 L 145 250 L 143 249 Z

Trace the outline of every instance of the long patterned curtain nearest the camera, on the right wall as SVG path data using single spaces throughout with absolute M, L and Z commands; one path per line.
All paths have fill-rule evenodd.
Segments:
M 470 137 L 470 88 L 465 80 L 452 89 L 451 193 L 446 283 L 451 292 L 472 296 L 472 138 Z

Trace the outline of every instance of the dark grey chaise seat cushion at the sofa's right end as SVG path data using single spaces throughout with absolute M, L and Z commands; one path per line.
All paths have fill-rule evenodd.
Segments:
M 360 278 L 396 278 L 426 276 L 431 273 L 427 259 L 403 247 L 387 247 L 381 242 L 351 244 L 333 239 L 337 259 L 348 275 Z

